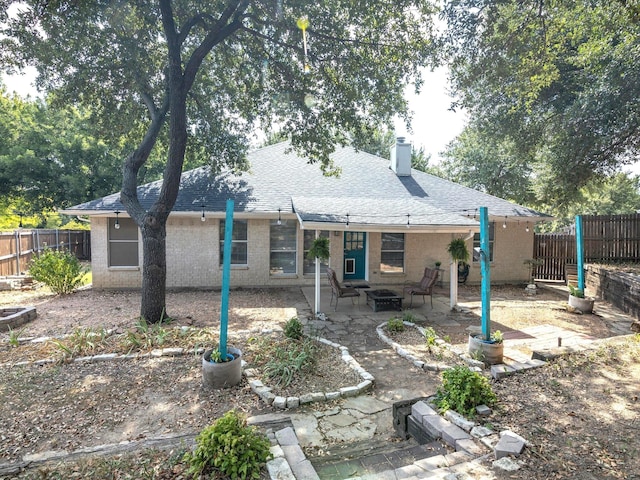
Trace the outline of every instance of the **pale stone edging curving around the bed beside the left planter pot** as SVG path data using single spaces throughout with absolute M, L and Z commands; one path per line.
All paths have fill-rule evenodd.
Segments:
M 328 400 L 337 400 L 339 398 L 356 397 L 371 388 L 373 388 L 375 378 L 349 354 L 349 349 L 338 343 L 327 340 L 322 337 L 311 337 L 317 342 L 324 345 L 339 349 L 341 352 L 342 361 L 349 366 L 354 372 L 360 375 L 362 381 L 358 385 L 341 387 L 334 392 L 313 392 L 306 393 L 300 397 L 282 397 L 272 393 L 272 389 L 262 383 L 262 381 L 255 379 L 257 372 L 254 369 L 247 369 L 244 371 L 247 380 L 249 380 L 249 386 L 251 390 L 256 393 L 266 404 L 273 406 L 279 410 L 287 408 L 297 408 L 301 405 L 309 404 L 312 402 L 324 402 Z M 252 380 L 252 378 L 254 378 Z

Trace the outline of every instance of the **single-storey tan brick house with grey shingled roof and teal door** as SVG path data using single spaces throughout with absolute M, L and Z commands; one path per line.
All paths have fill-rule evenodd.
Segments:
M 464 237 L 470 251 L 479 247 L 481 206 L 491 221 L 492 282 L 527 280 L 533 226 L 546 215 L 411 169 L 411 145 L 403 139 L 391 161 L 349 147 L 331 158 L 339 176 L 324 176 L 285 142 L 249 153 L 247 172 L 184 172 L 167 222 L 167 287 L 220 287 L 228 198 L 235 202 L 233 287 L 312 285 L 315 262 L 305 254 L 316 233 L 330 238 L 328 263 L 340 280 L 402 284 L 440 261 L 448 283 L 447 245 Z M 140 186 L 142 205 L 151 205 L 159 189 L 160 182 Z M 91 219 L 95 288 L 140 287 L 140 233 L 118 193 L 64 213 Z M 480 281 L 476 262 L 470 282 Z

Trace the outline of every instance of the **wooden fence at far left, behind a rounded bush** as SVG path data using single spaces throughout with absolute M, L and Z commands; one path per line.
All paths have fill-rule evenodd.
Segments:
M 44 229 L 0 232 L 0 276 L 25 273 L 33 254 L 45 247 L 55 250 L 63 248 L 80 260 L 90 260 L 91 232 Z

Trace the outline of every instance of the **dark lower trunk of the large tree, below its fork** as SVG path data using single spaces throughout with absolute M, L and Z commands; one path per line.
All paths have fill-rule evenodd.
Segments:
M 142 228 L 142 301 L 140 316 L 147 323 L 158 323 L 167 317 L 167 229 L 166 217 L 147 215 Z

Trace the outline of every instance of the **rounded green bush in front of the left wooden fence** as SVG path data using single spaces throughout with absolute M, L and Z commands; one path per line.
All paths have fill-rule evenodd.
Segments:
M 29 275 L 60 295 L 67 295 L 81 285 L 84 273 L 80 261 L 66 250 L 45 248 L 29 264 Z

